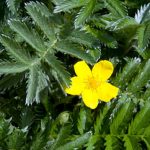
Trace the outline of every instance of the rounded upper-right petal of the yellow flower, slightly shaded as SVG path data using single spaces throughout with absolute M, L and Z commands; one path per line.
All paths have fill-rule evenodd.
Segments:
M 113 65 L 110 61 L 102 60 L 94 65 L 92 74 L 99 81 L 107 81 L 113 73 L 113 69 Z

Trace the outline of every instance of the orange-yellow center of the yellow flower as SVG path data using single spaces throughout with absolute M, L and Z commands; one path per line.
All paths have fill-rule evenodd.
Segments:
M 87 87 L 88 89 L 97 89 L 99 86 L 99 82 L 94 79 L 94 77 L 89 77 L 87 80 Z

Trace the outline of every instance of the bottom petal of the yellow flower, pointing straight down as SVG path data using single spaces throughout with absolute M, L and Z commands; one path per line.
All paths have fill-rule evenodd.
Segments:
M 95 109 L 98 105 L 98 94 L 96 91 L 85 89 L 82 92 L 82 99 L 85 105 L 91 109 Z

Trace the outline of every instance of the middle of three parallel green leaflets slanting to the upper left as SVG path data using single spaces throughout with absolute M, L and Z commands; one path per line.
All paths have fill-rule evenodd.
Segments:
M 38 33 L 30 31 L 27 25 L 19 20 L 9 21 L 10 27 L 17 32 L 23 39 L 30 44 L 35 50 L 41 52 L 45 51 L 47 47 L 44 45 L 44 41 L 40 38 Z

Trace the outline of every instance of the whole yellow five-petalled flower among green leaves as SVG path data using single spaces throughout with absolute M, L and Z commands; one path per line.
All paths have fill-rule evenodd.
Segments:
M 107 83 L 113 73 L 110 61 L 103 60 L 94 65 L 92 70 L 85 61 L 74 65 L 77 76 L 71 78 L 71 86 L 65 91 L 71 95 L 81 95 L 87 107 L 95 109 L 98 100 L 109 102 L 118 95 L 119 88 Z

